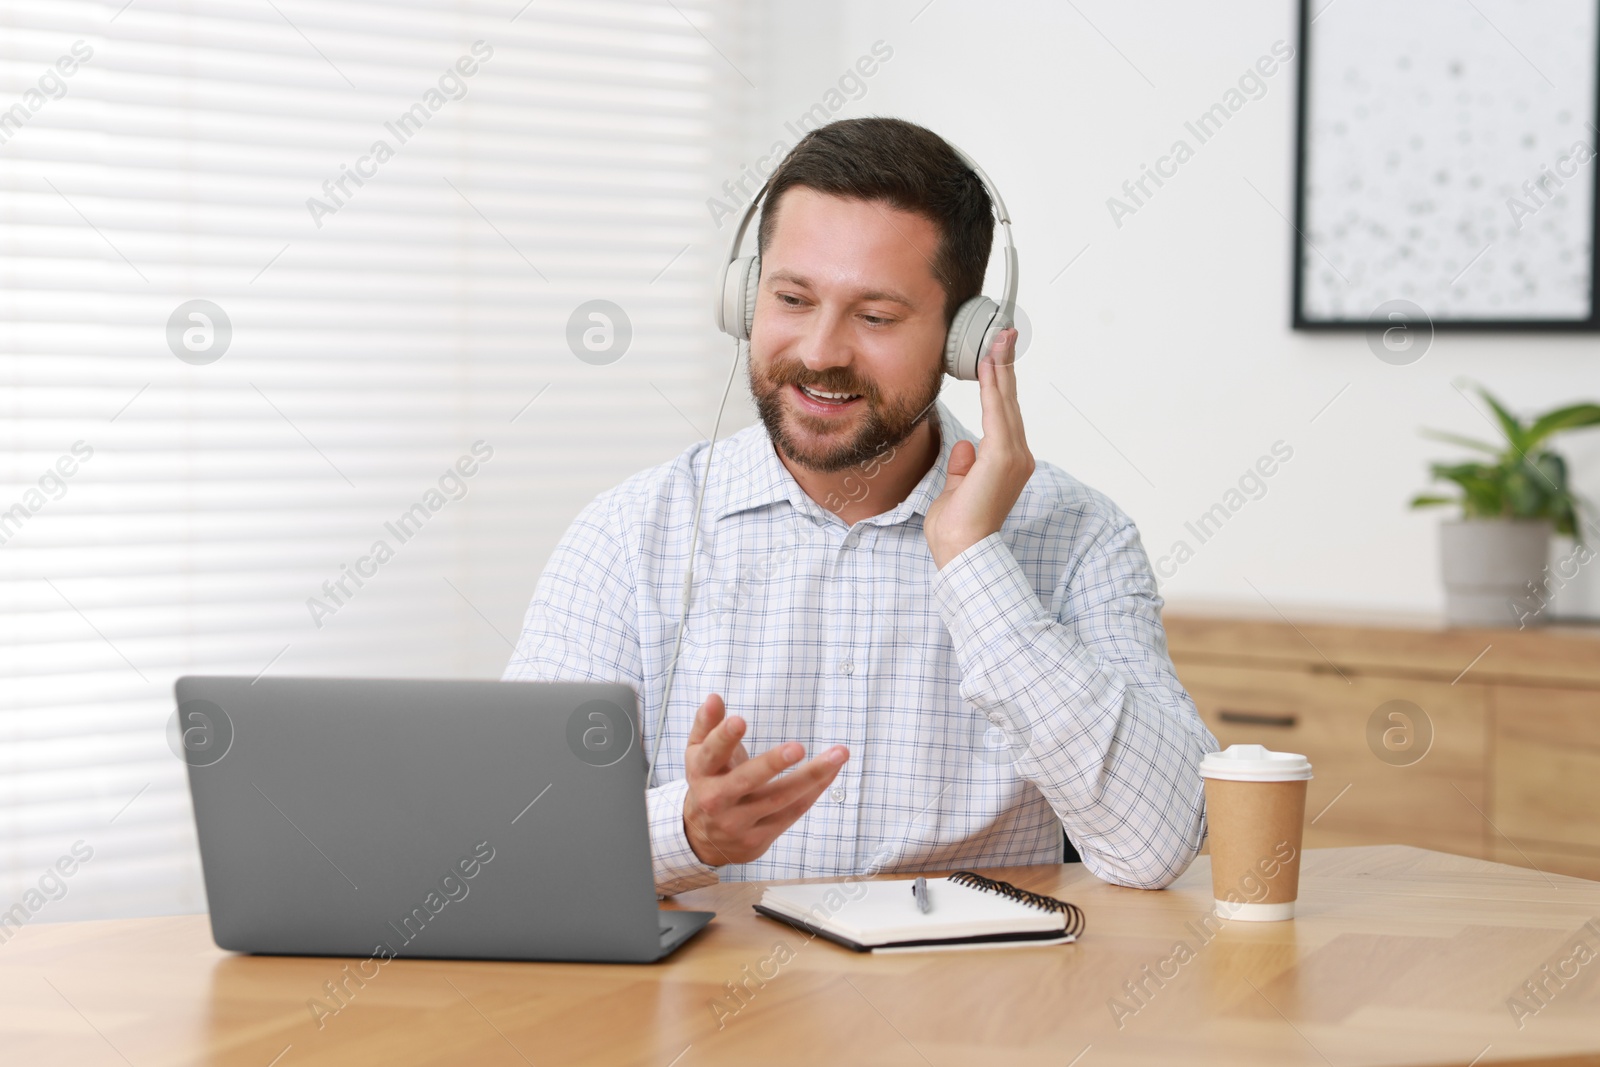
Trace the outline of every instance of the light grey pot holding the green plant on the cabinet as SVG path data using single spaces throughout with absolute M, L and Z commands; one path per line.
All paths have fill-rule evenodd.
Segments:
M 1528 627 L 1547 621 L 1541 589 L 1554 526 L 1544 518 L 1466 518 L 1438 525 L 1450 625 Z

